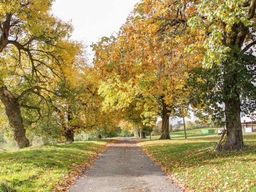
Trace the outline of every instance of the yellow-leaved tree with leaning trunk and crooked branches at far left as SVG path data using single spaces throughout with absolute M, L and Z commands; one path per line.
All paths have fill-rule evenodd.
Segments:
M 41 117 L 42 103 L 49 105 L 57 94 L 52 84 L 71 68 L 79 50 L 67 40 L 72 26 L 54 17 L 51 5 L 52 0 L 0 1 L 0 99 L 18 148 L 29 146 L 21 108 Z

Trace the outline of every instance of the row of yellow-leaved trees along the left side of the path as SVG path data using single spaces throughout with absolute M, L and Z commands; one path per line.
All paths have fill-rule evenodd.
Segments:
M 0 1 L 0 128 L 18 148 L 34 136 L 72 142 L 74 133 L 116 124 L 102 110 L 85 46 L 69 39 L 72 25 L 52 15 L 52 2 Z

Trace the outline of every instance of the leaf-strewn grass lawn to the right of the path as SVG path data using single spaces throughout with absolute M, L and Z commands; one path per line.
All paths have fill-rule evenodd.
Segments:
M 218 137 L 200 137 L 141 140 L 138 144 L 188 191 L 256 191 L 256 134 L 244 135 L 251 148 L 243 151 L 204 148 L 217 141 Z

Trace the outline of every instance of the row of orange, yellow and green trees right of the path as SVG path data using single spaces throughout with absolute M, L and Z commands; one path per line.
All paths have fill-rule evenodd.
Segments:
M 143 0 L 116 36 L 94 45 L 104 106 L 151 127 L 162 117 L 227 127 L 225 150 L 243 147 L 240 114 L 256 108 L 255 1 Z M 140 125 L 143 127 L 143 125 Z

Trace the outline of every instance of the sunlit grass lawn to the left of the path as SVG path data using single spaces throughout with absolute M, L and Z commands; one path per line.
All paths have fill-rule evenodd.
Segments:
M 0 152 L 0 192 L 51 191 L 65 186 L 110 140 Z M 69 180 L 68 182 L 72 182 Z

